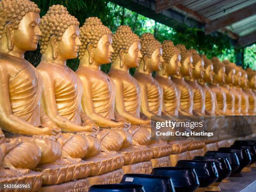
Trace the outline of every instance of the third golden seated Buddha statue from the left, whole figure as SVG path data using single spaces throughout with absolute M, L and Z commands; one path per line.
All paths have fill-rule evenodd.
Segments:
M 140 162 L 143 151 L 142 148 L 131 145 L 133 139 L 128 132 L 131 123 L 115 110 L 115 84 L 100 70 L 100 65 L 110 63 L 114 51 L 112 32 L 96 17 L 87 18 L 80 30 L 82 45 L 76 74 L 81 79 L 84 90 L 82 110 L 100 126 L 97 137 L 104 137 L 101 146 L 124 154 L 125 164 Z

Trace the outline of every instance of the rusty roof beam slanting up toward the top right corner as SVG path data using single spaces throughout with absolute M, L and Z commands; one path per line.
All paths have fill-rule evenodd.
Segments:
M 254 14 L 256 14 L 256 3 L 253 3 L 246 8 L 242 8 L 240 10 L 229 13 L 228 15 L 224 15 L 223 17 L 220 17 L 218 19 L 212 20 L 209 23 L 206 23 L 205 34 L 209 34 L 213 31 L 216 31 L 220 28 L 228 26 Z

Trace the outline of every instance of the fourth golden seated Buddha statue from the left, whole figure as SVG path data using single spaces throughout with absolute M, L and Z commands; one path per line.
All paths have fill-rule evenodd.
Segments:
M 153 149 L 153 158 L 167 156 L 166 147 L 168 146 L 157 145 L 151 141 L 151 120 L 140 113 L 141 90 L 138 81 L 129 73 L 130 68 L 138 67 L 142 58 L 139 37 L 132 32 L 129 26 L 120 26 L 113 34 L 113 49 L 112 64 L 108 75 L 115 84 L 117 112 L 132 124 L 129 132 L 133 136 L 134 144 L 145 145 Z M 149 108 L 145 110 L 146 114 L 152 114 Z M 167 161 L 169 161 L 168 158 Z M 153 167 L 169 165 L 168 162 L 160 162 L 156 159 L 151 162 Z

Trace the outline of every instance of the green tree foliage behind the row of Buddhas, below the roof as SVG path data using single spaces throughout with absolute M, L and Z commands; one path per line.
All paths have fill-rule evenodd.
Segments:
M 220 60 L 228 59 L 235 60 L 235 52 L 231 46 L 230 40 L 222 35 L 204 35 L 204 32 L 197 28 L 185 28 L 183 31 L 176 31 L 169 26 L 157 23 L 152 19 L 146 18 L 143 15 L 135 13 L 131 10 L 123 8 L 119 5 L 109 2 L 109 0 L 32 0 L 41 9 L 40 15 L 46 14 L 49 6 L 61 4 L 67 7 L 69 13 L 74 15 L 83 25 L 86 18 L 96 16 L 102 20 L 105 26 L 108 26 L 113 33 L 120 25 L 130 26 L 134 33 L 141 36 L 142 33 L 153 33 L 157 40 L 172 40 L 174 44 L 184 44 L 187 49 L 193 48 L 201 54 L 205 54 L 208 58 L 218 56 Z M 255 49 L 256 46 L 246 48 L 245 61 L 250 67 L 255 69 Z M 28 51 L 26 59 L 37 66 L 40 62 L 41 54 L 39 49 L 36 51 Z M 78 59 L 67 61 L 67 65 L 73 70 L 76 70 L 79 65 Z M 102 65 L 102 71 L 108 72 L 110 64 Z M 135 69 L 131 69 L 133 74 Z

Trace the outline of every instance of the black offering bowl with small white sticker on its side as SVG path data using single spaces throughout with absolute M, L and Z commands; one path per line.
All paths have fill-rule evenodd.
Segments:
M 146 192 L 175 192 L 171 177 L 151 174 L 125 174 L 121 180 L 124 184 L 141 184 Z

